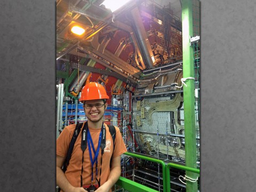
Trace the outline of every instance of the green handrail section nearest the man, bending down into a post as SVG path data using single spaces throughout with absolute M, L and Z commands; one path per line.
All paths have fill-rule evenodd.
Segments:
M 143 156 L 143 155 L 139 155 L 139 154 L 134 154 L 134 153 L 130 153 L 130 152 L 125 152 L 124 155 L 128 155 L 128 156 L 132 156 L 132 157 L 144 159 L 144 160 L 147 160 L 147 161 L 150 161 L 150 162 L 161 164 L 162 168 L 163 168 L 163 191 L 167 191 L 166 190 L 166 165 L 162 160 L 155 159 L 155 158 L 152 158 L 152 157 Z M 170 175 L 169 175 L 169 177 L 170 177 Z M 169 179 L 169 181 L 170 181 L 170 179 Z

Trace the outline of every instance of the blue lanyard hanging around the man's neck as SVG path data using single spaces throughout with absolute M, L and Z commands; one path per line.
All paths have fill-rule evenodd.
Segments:
M 91 165 L 92 165 L 92 182 L 93 182 L 93 165 L 94 165 L 94 163 L 96 163 L 96 177 L 98 175 L 98 155 L 99 155 L 99 151 L 100 151 L 101 131 L 100 131 L 97 150 L 95 150 L 95 148 L 94 148 L 92 137 L 91 137 L 89 129 L 87 131 L 87 139 L 88 139 L 89 155 L 90 155 L 90 160 L 91 160 Z M 93 149 L 94 159 L 92 159 L 92 149 L 91 149 L 91 147 Z

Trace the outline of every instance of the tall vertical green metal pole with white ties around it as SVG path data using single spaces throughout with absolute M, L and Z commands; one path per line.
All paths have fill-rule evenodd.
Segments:
M 194 52 L 190 46 L 190 36 L 193 36 L 193 6 L 191 0 L 182 0 L 182 52 L 183 78 L 195 77 Z M 196 168 L 196 126 L 195 126 L 195 84 L 193 79 L 187 79 L 183 85 L 184 126 L 185 126 L 185 161 L 186 166 Z M 196 179 L 197 174 L 186 171 L 189 178 Z M 196 192 L 197 181 L 186 181 L 186 191 Z

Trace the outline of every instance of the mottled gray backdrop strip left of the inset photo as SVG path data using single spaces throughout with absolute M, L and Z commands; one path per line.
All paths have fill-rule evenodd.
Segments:
M 55 2 L 0 7 L 0 191 L 54 191 Z

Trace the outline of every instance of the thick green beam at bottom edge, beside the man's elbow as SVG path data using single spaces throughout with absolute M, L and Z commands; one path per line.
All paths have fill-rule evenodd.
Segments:
M 116 185 L 131 192 L 157 192 L 157 190 L 155 189 L 151 189 L 149 187 L 141 185 L 140 183 L 123 177 L 119 177 L 119 179 L 116 182 Z

